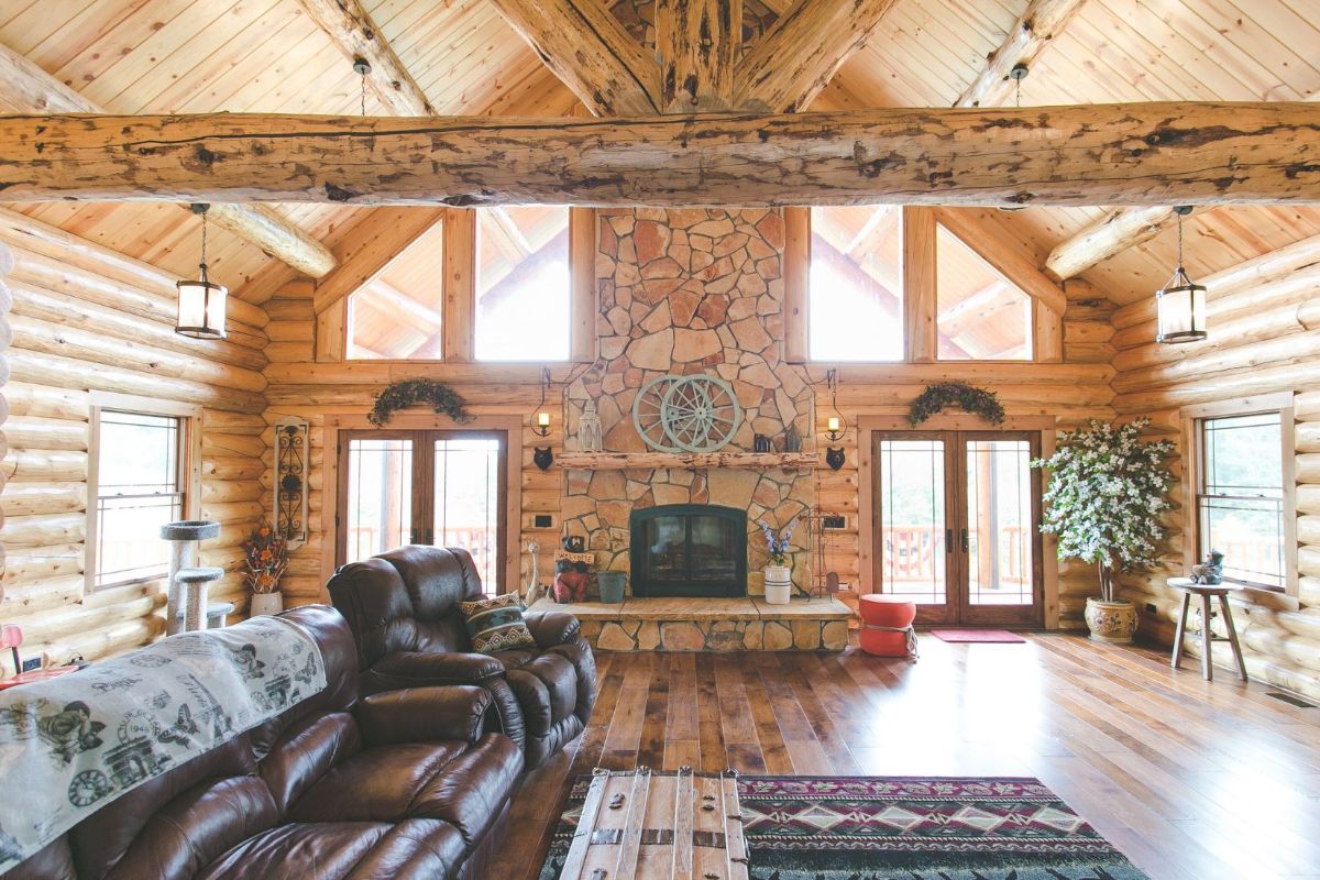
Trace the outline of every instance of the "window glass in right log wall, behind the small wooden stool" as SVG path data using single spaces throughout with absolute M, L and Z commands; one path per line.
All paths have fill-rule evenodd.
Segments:
M 1287 586 L 1283 424 L 1279 412 L 1196 421 L 1197 558 L 1224 554 L 1224 577 Z

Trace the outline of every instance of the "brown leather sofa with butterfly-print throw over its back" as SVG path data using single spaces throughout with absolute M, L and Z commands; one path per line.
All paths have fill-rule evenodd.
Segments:
M 132 789 L 7 880 L 480 876 L 523 768 L 512 740 L 484 732 L 490 694 L 359 699 L 343 617 L 326 606 L 286 616 L 321 644 L 326 690 Z

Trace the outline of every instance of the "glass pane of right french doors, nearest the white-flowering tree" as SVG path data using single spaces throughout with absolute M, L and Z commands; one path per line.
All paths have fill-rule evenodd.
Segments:
M 1031 443 L 973 439 L 965 447 L 968 600 L 1030 606 L 1035 602 Z

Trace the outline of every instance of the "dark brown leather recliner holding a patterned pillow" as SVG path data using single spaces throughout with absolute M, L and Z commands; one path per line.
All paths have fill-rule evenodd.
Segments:
M 595 657 L 577 617 L 562 612 L 527 615 L 535 650 L 469 653 L 458 603 L 480 598 L 473 557 L 457 548 L 399 548 L 330 579 L 330 600 L 358 639 L 363 693 L 480 685 L 527 768 L 540 767 L 591 719 Z

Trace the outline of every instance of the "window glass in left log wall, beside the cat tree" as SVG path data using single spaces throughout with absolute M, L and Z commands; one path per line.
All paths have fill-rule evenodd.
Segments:
M 161 578 L 169 544 L 160 526 L 185 519 L 186 420 L 96 410 L 92 586 Z

